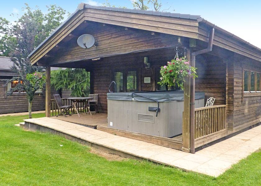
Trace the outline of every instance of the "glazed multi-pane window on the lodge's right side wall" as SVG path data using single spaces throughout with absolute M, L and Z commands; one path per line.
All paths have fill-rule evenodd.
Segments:
M 260 78 L 259 72 L 245 70 L 244 71 L 244 91 L 257 92 L 260 91 Z

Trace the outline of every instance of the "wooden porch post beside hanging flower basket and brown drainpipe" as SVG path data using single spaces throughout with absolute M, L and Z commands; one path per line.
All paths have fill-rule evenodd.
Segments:
M 186 59 L 191 61 L 191 49 L 186 52 Z M 190 152 L 190 78 L 184 82 L 184 112 L 182 122 L 182 139 L 183 145 L 181 150 Z

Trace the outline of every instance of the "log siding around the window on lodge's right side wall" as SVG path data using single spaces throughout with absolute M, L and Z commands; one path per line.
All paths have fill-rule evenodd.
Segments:
M 260 95 L 244 97 L 242 99 L 243 69 L 261 72 L 261 64 L 242 55 L 235 55 L 234 62 L 234 110 L 233 126 L 240 126 L 261 118 Z M 254 95 L 254 93 L 252 93 Z

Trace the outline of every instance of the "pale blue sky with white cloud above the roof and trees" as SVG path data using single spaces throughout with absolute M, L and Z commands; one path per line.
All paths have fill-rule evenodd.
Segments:
M 260 0 L 201 0 L 201 1 L 173 1 L 159 0 L 163 9 L 183 14 L 201 15 L 204 19 L 218 25 L 219 27 L 239 36 L 251 44 L 261 48 L 261 1 Z M 14 21 L 22 15 L 21 8 L 24 3 L 30 7 L 38 6 L 43 12 L 47 10 L 46 5 L 56 4 L 69 12 L 74 12 L 80 4 L 85 2 L 91 5 L 101 5 L 105 0 L 0 0 L 0 16 Z M 130 0 L 108 0 L 111 5 L 126 6 L 132 8 Z M 15 16 L 10 16 L 10 14 Z

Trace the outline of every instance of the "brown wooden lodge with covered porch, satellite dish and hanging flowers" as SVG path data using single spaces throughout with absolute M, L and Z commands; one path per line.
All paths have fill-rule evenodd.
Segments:
M 77 38 L 83 34 L 95 38 L 93 47 L 78 46 Z M 117 81 L 117 92 L 162 90 L 157 83 L 159 68 L 172 60 L 176 51 L 195 65 L 198 74 L 195 80 L 185 82 L 189 91 L 184 95 L 182 135 L 148 135 L 115 129 L 109 123 L 97 128 L 194 153 L 195 148 L 259 124 L 261 49 L 198 15 L 81 3 L 29 57 L 32 65 L 47 67 L 46 116 L 50 117 L 50 67 L 89 71 L 91 93 L 99 94 L 98 110 L 109 113 L 116 109 L 107 100 L 112 81 Z M 135 77 L 132 85 L 127 83 L 130 76 Z M 204 104 L 214 97 L 214 106 L 195 108 L 195 92 L 204 92 Z M 130 106 L 127 113 L 119 114 L 132 119 L 136 117 L 132 111 Z M 156 113 L 150 113 L 155 118 Z M 163 114 L 163 109 L 158 114 Z

